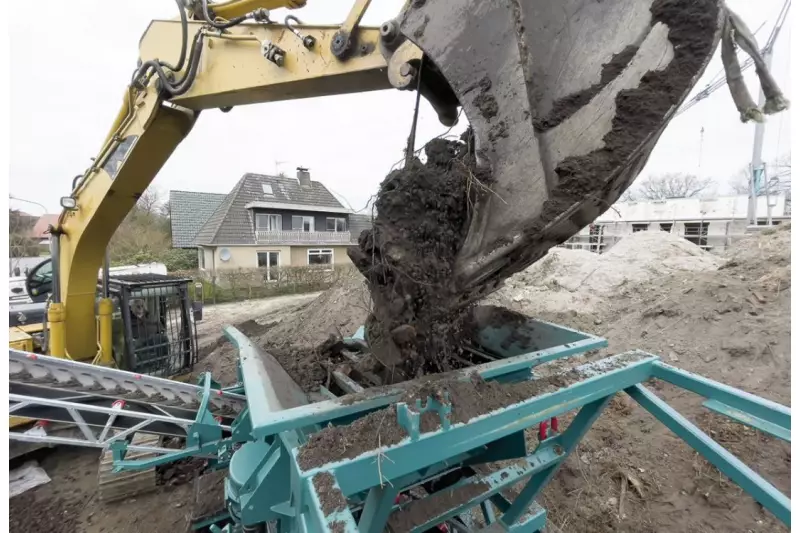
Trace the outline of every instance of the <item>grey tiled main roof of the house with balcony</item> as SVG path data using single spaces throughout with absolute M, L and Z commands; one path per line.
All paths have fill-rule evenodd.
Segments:
M 263 185 L 272 187 L 272 195 L 266 196 Z M 311 188 L 304 189 L 294 178 L 245 174 L 219 207 L 208 218 L 197 233 L 198 245 L 256 244 L 253 232 L 252 213 L 245 206 L 251 202 L 307 205 L 309 207 L 331 207 L 343 209 L 341 203 L 325 186 L 312 181 Z

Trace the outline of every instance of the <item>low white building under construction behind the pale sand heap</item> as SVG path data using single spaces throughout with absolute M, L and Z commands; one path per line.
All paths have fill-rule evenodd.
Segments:
M 602 253 L 626 235 L 666 231 L 719 252 L 747 234 L 748 202 L 747 195 L 619 202 L 562 246 Z M 789 211 L 783 193 L 756 198 L 758 225 L 789 221 Z

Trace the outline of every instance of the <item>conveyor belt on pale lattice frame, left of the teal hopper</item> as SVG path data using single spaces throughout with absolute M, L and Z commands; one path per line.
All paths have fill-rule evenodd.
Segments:
M 12 429 L 12 440 L 49 445 L 107 448 L 135 433 L 183 437 L 195 421 L 203 388 L 134 372 L 9 350 L 9 415 L 70 424 L 57 432 Z M 246 405 L 245 397 L 214 391 L 209 411 L 224 431 Z M 169 453 L 153 446 L 131 451 Z

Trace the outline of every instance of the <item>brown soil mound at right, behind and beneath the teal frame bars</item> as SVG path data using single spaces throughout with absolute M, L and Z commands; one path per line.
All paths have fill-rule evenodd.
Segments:
M 733 246 L 719 270 L 653 278 L 608 302 L 598 323 L 569 315 L 562 323 L 609 340 L 594 357 L 638 348 L 790 405 L 790 235 L 788 226 L 766 230 Z M 790 494 L 788 443 L 705 409 L 692 393 L 659 381 L 648 386 Z M 540 503 L 552 532 L 788 531 L 625 395 L 595 423 Z

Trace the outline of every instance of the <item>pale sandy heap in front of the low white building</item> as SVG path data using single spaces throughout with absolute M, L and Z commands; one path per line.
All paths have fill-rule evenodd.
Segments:
M 488 301 L 536 317 L 604 314 L 612 297 L 628 296 L 639 284 L 678 272 L 712 272 L 724 262 L 677 235 L 643 231 L 602 255 L 554 248 Z

